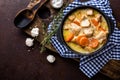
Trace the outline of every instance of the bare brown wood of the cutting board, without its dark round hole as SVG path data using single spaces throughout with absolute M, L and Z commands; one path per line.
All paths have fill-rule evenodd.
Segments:
M 64 0 L 64 3 L 66 3 L 67 0 Z M 69 1 L 69 2 L 72 2 Z M 37 37 L 37 40 L 39 42 L 42 41 L 43 37 L 44 37 L 44 34 L 43 34 L 43 28 L 41 27 L 41 23 L 45 23 L 46 25 L 48 25 L 52 19 L 53 19 L 53 16 L 55 16 L 57 14 L 57 12 L 59 10 L 55 10 L 53 9 L 51 6 L 50 6 L 50 2 L 46 2 L 44 4 L 44 6 L 48 7 L 51 11 L 51 16 L 47 19 L 41 19 L 38 15 L 36 16 L 34 22 L 29 25 L 30 27 L 28 29 L 25 29 L 25 32 L 29 35 L 30 34 L 30 30 L 35 26 L 35 25 L 38 25 L 39 29 L 40 29 L 40 35 Z M 50 46 L 46 46 L 48 49 L 56 52 L 56 50 L 54 49 L 54 47 L 52 47 L 52 45 Z M 57 52 L 56 52 L 57 53 Z M 76 59 L 77 60 L 77 59 Z M 79 61 L 79 60 L 77 60 Z M 101 70 L 101 73 L 104 74 L 104 75 L 107 75 L 109 76 L 110 78 L 113 78 L 113 79 L 120 79 L 120 61 L 117 61 L 117 60 L 110 60 Z

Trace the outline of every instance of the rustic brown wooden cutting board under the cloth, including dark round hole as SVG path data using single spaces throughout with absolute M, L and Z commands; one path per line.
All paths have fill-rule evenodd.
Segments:
M 73 0 L 64 0 L 64 3 L 66 2 L 72 2 Z M 27 26 L 27 28 L 23 29 L 28 35 L 30 34 L 30 31 L 33 27 L 37 26 L 40 29 L 40 35 L 35 38 L 37 41 L 41 42 L 44 38 L 44 33 L 43 33 L 43 28 L 42 28 L 42 23 L 44 23 L 46 26 L 53 20 L 53 16 L 57 15 L 59 12 L 59 9 L 54 9 L 50 5 L 50 1 L 48 0 L 42 0 L 42 3 L 40 5 L 41 7 L 39 8 L 35 19 L 33 22 Z M 51 51 L 56 52 L 54 47 L 52 45 L 46 46 L 48 49 Z M 56 52 L 57 53 L 57 52 Z M 75 59 L 75 61 L 79 61 Z M 102 74 L 113 78 L 113 79 L 118 79 L 120 80 L 120 61 L 117 60 L 110 60 L 100 71 Z

